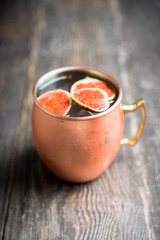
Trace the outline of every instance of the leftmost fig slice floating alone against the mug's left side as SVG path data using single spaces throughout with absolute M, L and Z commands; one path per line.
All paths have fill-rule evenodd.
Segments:
M 45 109 L 62 116 L 69 112 L 72 103 L 70 93 L 62 89 L 45 92 L 37 100 Z

